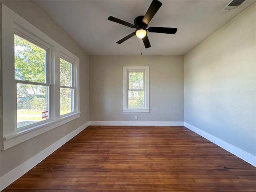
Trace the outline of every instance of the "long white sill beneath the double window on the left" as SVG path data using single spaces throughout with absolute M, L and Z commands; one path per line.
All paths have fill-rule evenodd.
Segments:
M 46 122 L 45 124 L 40 124 L 39 126 L 34 126 L 32 128 L 20 130 L 14 132 L 14 134 L 3 137 L 3 146 L 2 150 L 6 150 L 15 145 L 18 145 L 26 140 L 29 140 L 33 137 L 36 137 L 40 134 L 43 134 L 49 130 L 52 130 L 58 126 L 66 124 L 76 118 L 80 117 L 80 112 L 70 114 L 69 116 L 65 116 L 63 118 L 52 120 L 50 122 Z

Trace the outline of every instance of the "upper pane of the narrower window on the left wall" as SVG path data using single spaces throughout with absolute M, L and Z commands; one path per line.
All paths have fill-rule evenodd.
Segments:
M 60 86 L 71 87 L 71 66 L 71 63 L 60 59 Z

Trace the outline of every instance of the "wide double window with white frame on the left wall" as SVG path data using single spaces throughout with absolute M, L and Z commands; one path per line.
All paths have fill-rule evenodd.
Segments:
M 2 150 L 80 117 L 79 58 L 2 4 Z

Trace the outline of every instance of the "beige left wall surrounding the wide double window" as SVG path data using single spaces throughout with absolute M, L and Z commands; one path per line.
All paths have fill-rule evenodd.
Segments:
M 0 1 L 80 58 L 80 118 L 0 151 L 0 177 L 89 121 L 89 57 L 32 1 Z M 4 90 L 3 90 L 4 91 Z

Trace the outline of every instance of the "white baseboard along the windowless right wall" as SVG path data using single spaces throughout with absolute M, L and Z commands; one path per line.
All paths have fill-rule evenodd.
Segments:
M 206 138 L 210 142 L 213 142 L 214 144 L 220 146 L 221 148 L 227 150 L 228 152 L 234 154 L 235 156 L 239 157 L 240 159 L 248 162 L 249 164 L 256 167 L 256 156 L 249 154 L 248 152 L 245 152 L 244 150 L 237 148 L 236 146 L 233 146 L 195 126 L 192 126 L 186 122 L 184 122 L 184 126 L 193 132 L 199 134 L 200 136 Z

